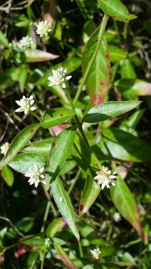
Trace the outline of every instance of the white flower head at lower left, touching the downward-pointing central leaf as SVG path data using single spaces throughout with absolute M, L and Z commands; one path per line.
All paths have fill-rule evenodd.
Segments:
M 30 169 L 31 173 L 25 174 L 25 177 L 29 177 L 28 180 L 29 184 L 35 184 L 35 187 L 38 187 L 39 182 L 42 182 L 43 184 L 46 184 L 45 176 L 43 175 L 45 168 L 42 167 L 39 169 L 37 165 L 34 164 L 35 169 Z

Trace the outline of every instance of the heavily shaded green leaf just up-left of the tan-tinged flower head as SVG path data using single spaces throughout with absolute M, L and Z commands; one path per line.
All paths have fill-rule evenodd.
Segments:
M 70 154 L 75 162 L 91 177 L 96 176 L 96 171 L 102 169 L 98 158 L 92 149 L 86 144 L 79 135 L 75 137 Z

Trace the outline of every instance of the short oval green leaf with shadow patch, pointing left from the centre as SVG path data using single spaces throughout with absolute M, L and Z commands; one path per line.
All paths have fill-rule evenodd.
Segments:
M 48 110 L 43 118 L 43 128 L 50 128 L 69 120 L 75 115 L 75 112 L 65 108 Z

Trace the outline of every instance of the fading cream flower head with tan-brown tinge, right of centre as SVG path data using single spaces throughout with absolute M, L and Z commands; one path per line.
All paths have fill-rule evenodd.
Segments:
M 96 172 L 97 176 L 94 177 L 94 180 L 98 180 L 98 185 L 101 185 L 101 189 L 103 190 L 105 187 L 108 189 L 111 188 L 110 185 L 115 186 L 115 183 L 112 180 L 117 180 L 116 172 L 111 172 L 108 167 L 102 166 L 102 170 Z

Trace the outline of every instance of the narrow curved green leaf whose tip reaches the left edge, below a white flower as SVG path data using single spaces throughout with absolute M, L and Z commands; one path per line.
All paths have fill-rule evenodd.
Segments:
M 31 124 L 25 127 L 12 141 L 12 144 L 7 151 L 5 157 L 0 163 L 0 170 L 6 165 L 11 163 L 17 153 L 30 141 L 37 130 L 40 128 L 41 124 Z

